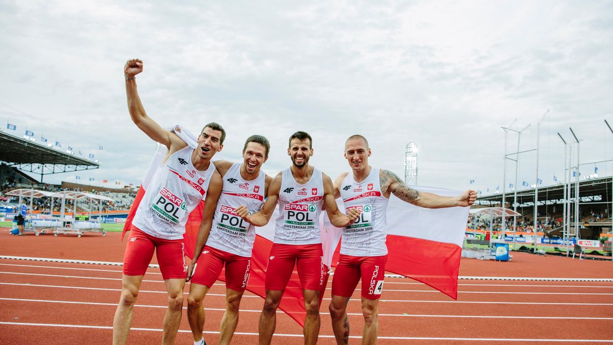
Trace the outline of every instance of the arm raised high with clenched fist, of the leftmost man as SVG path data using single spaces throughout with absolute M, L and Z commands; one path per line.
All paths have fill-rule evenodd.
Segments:
M 128 78 L 134 78 L 143 71 L 143 61 L 138 59 L 128 60 L 124 66 L 124 73 Z M 139 92 L 136 88 L 136 79 L 126 79 L 126 95 L 128 96 L 128 110 L 132 122 L 140 128 L 149 138 L 166 146 L 170 153 L 183 149 L 187 144 L 177 136 L 164 130 L 157 122 L 147 116 L 145 107 L 140 101 Z

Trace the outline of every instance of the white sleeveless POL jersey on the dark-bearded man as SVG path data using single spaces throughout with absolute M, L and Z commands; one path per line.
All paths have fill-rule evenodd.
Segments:
M 324 203 L 324 180 L 321 171 L 313 168 L 306 184 L 298 184 L 290 168 L 283 170 L 279 191 L 279 217 L 276 219 L 273 242 L 281 244 L 321 243 L 319 213 Z

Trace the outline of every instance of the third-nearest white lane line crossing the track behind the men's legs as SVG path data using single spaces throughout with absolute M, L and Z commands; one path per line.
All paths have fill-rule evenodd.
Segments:
M 84 289 L 84 290 L 102 290 L 102 291 L 121 291 L 121 289 L 106 289 L 101 287 L 75 287 L 75 286 L 62 286 L 62 285 L 41 285 L 41 284 L 20 284 L 20 283 L 7 283 L 0 282 L 0 285 L 17 285 L 17 286 L 32 286 L 32 287 L 55 287 L 59 289 Z M 150 291 L 140 290 L 140 292 L 150 293 L 166 293 L 166 291 Z M 207 293 L 207 296 L 221 296 L 226 297 L 223 293 Z M 243 297 L 257 297 L 257 295 L 243 295 Z M 332 298 L 323 298 L 323 300 L 330 301 Z M 351 298 L 350 302 L 359 302 L 360 298 Z M 530 304 L 533 305 L 555 305 L 555 306 L 613 306 L 613 303 L 556 303 L 556 302 L 506 302 L 506 301 L 428 301 L 428 300 L 379 300 L 381 302 L 408 302 L 408 303 L 472 303 L 472 304 Z

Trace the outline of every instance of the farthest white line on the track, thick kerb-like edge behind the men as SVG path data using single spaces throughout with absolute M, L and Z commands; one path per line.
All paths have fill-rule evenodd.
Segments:
M 12 260 L 32 260 L 32 261 L 44 261 L 44 262 L 64 262 L 64 263 L 88 263 L 92 265 L 113 265 L 123 266 L 121 262 L 104 262 L 104 261 L 91 261 L 91 260 L 69 260 L 69 259 L 56 259 L 56 258 L 35 258 L 35 257 L 15 257 L 10 255 L 0 255 L 0 259 L 12 259 Z M 159 268 L 159 265 L 150 264 L 151 268 Z M 330 274 L 333 276 L 333 274 Z M 386 274 L 389 278 L 405 278 L 398 274 Z M 569 281 L 569 282 L 613 282 L 613 278 L 557 278 L 557 277 L 481 277 L 481 276 L 459 276 L 458 279 L 466 280 L 493 280 L 493 281 Z

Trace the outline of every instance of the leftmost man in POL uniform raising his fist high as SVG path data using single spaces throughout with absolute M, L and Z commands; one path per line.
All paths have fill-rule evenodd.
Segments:
M 123 259 L 121 298 L 113 319 L 113 344 L 125 344 L 128 340 L 132 308 L 153 250 L 156 250 L 168 292 L 162 344 L 172 344 L 181 322 L 187 272 L 183 244 L 185 223 L 189 213 L 205 198 L 200 231 L 211 227 L 222 185 L 211 158 L 221 151 L 226 132 L 217 123 L 209 123 L 200 133 L 197 148 L 192 149 L 177 134 L 163 130 L 147 116 L 140 102 L 134 76 L 142 71 L 143 61 L 140 60 L 129 60 L 124 66 L 130 116 L 140 130 L 165 145 L 168 152 L 152 177 L 132 221 Z

